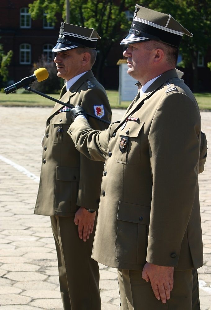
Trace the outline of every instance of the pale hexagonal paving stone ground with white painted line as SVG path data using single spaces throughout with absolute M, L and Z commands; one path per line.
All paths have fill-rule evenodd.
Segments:
M 15 96 L 15 94 L 12 94 Z M 56 250 L 50 219 L 33 215 L 50 108 L 0 107 L 1 310 L 60 310 Z M 113 120 L 123 110 L 113 110 Z M 211 113 L 201 112 L 211 141 Z M 201 310 L 211 309 L 211 157 L 199 175 L 204 266 L 199 269 Z M 117 273 L 100 266 L 102 310 L 119 309 Z

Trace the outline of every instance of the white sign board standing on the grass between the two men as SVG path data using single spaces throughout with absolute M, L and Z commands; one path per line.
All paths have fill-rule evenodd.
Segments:
M 132 78 L 127 71 L 127 63 L 119 64 L 119 104 L 121 101 L 132 101 L 138 93 L 138 87 L 135 85 L 137 80 Z

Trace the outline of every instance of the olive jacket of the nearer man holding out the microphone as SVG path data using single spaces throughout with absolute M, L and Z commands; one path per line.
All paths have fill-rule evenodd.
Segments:
M 77 149 L 105 160 L 92 252 L 104 265 L 203 265 L 200 112 L 178 74 L 162 74 L 108 130 L 93 131 L 85 119 L 70 126 Z

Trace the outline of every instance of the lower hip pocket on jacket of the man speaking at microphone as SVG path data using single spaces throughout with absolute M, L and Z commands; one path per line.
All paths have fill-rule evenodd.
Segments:
M 76 212 L 79 189 L 79 168 L 56 167 L 54 210 Z

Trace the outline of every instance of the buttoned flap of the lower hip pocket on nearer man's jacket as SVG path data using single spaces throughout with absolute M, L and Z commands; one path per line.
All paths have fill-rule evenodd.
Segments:
M 137 224 L 150 224 L 150 207 L 119 201 L 117 219 Z

